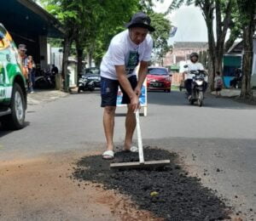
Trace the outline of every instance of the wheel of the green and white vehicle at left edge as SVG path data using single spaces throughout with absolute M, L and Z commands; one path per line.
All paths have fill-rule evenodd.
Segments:
M 3 118 L 3 128 L 21 129 L 25 127 L 25 98 L 20 85 L 15 83 L 10 105 L 12 113 Z

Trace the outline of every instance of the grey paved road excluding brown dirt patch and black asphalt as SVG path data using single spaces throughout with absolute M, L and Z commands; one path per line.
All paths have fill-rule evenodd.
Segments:
M 99 92 L 71 94 L 30 105 L 27 127 L 0 132 L 0 160 L 66 150 L 103 150 Z M 125 108 L 119 108 L 114 140 L 124 138 Z M 183 93 L 148 93 L 142 117 L 143 142 L 180 154 L 191 174 L 256 217 L 256 107 L 210 96 L 203 107 L 188 105 Z M 219 169 L 220 172 L 217 172 Z M 253 208 L 253 212 L 249 209 Z M 249 215 L 248 215 L 249 214 Z

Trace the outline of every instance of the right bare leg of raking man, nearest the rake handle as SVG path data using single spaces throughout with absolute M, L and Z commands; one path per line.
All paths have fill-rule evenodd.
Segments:
M 125 150 L 130 150 L 132 144 L 132 136 L 136 127 L 136 118 L 134 112 L 131 110 L 131 105 L 127 105 L 128 110 L 125 119 Z

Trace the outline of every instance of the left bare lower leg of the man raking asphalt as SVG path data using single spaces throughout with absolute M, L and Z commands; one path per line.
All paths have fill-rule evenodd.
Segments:
M 103 126 L 107 140 L 107 150 L 113 150 L 113 127 L 115 106 L 106 106 L 103 114 Z

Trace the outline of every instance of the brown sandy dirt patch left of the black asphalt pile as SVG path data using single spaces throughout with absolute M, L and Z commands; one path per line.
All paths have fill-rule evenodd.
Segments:
M 0 220 L 160 220 L 100 184 L 69 178 L 80 154 L 0 164 Z

